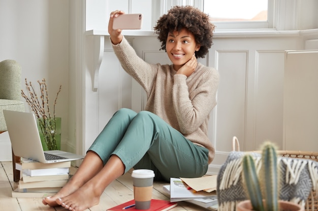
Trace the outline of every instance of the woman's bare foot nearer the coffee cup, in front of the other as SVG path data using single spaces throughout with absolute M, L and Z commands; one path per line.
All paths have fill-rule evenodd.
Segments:
M 56 199 L 56 203 L 69 210 L 83 211 L 98 204 L 100 197 L 101 193 L 94 186 L 86 183 L 71 195 Z

